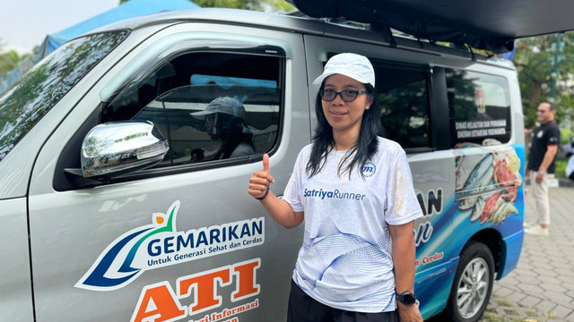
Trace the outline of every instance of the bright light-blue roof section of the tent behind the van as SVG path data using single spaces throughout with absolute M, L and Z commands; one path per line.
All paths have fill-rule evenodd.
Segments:
M 145 14 L 195 8 L 200 8 L 200 6 L 188 0 L 129 0 L 105 13 L 100 13 L 86 21 L 51 34 L 48 38 L 50 38 L 49 41 L 54 42 L 54 46 L 57 45 L 56 47 L 58 47 L 69 39 L 76 38 L 83 33 L 95 30 L 112 22 L 139 17 Z M 50 47 L 52 47 L 52 45 L 50 45 Z M 53 51 L 53 49 L 51 49 L 51 51 Z

